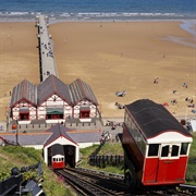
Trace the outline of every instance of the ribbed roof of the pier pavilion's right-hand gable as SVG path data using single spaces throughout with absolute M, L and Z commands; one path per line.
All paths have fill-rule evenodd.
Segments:
M 98 101 L 97 101 L 90 86 L 88 86 L 81 78 L 77 78 L 76 81 L 71 83 L 69 85 L 69 87 L 72 91 L 72 99 L 73 99 L 74 105 L 76 105 L 77 102 L 79 102 L 83 99 L 87 99 L 96 106 L 98 105 Z

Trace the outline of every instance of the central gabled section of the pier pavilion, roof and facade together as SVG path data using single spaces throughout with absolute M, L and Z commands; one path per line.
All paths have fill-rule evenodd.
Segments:
M 72 115 L 72 100 L 69 86 L 54 75 L 47 77 L 37 87 L 37 119 L 48 123 L 64 122 Z

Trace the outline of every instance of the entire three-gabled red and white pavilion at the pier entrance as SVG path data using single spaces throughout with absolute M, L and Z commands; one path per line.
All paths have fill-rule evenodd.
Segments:
M 11 118 L 26 123 L 32 120 L 46 120 L 47 123 L 79 119 L 90 122 L 98 115 L 98 101 L 90 88 L 82 79 L 70 85 L 50 75 L 38 86 L 28 81 L 13 88 Z

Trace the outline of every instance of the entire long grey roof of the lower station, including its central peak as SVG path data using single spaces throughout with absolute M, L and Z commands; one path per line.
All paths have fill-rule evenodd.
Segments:
M 100 142 L 101 133 L 100 130 L 74 131 L 62 124 L 56 124 L 46 132 L 19 133 L 17 142 L 21 146 L 44 145 L 46 147 L 59 137 L 64 137 L 77 145 L 77 143 L 98 143 Z M 1 133 L 0 139 L 10 144 L 16 144 L 15 133 Z

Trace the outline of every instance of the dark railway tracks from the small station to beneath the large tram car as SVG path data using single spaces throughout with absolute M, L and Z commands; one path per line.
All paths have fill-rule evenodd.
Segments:
M 54 170 L 79 195 L 196 195 L 196 186 L 144 187 L 139 191 L 127 188 L 123 175 L 90 169 L 75 168 Z

